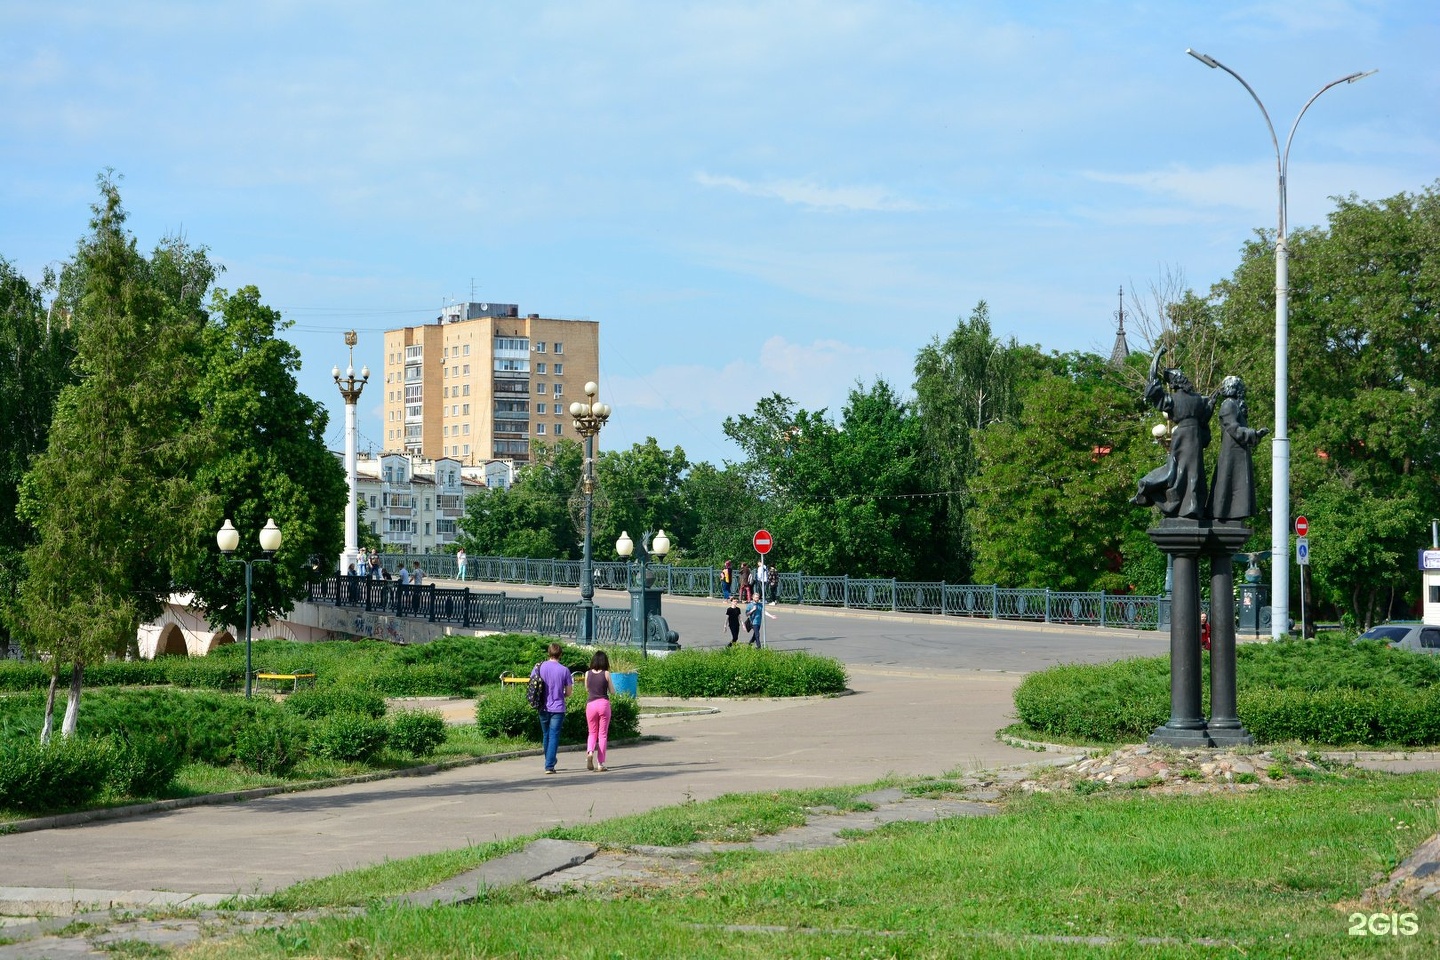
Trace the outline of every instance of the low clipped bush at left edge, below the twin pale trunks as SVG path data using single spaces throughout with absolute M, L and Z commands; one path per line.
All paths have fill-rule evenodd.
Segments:
M 114 746 L 81 737 L 0 746 L 0 807 L 26 812 L 84 806 L 105 789 Z

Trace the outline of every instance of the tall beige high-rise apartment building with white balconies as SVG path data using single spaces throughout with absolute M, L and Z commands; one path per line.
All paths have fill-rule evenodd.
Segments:
M 569 407 L 599 379 L 599 322 L 452 304 L 435 322 L 384 334 L 384 449 L 527 463 L 531 439 L 579 439 Z

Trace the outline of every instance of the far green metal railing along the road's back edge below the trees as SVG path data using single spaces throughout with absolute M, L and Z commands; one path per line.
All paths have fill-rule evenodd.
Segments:
M 458 576 L 454 554 L 384 554 L 382 557 L 382 564 L 386 569 L 395 569 L 396 563 L 405 563 L 406 567 L 419 563 L 420 569 L 431 577 L 449 580 Z M 716 567 L 675 567 L 652 563 L 648 571 L 651 586 L 672 596 L 717 597 L 721 594 L 720 570 Z M 469 557 L 465 564 L 465 577 L 478 583 L 577 587 L 580 584 L 580 561 Z M 625 590 L 629 586 L 636 586 L 632 583 L 635 577 L 638 577 L 638 569 L 634 564 L 595 563 L 596 589 Z M 778 603 L 831 606 L 848 610 L 932 613 L 1136 630 L 1159 629 L 1164 622 L 1162 610 L 1168 603 L 1166 597 L 1115 594 L 1103 590 L 1015 589 L 994 584 L 847 576 L 811 577 L 804 573 L 775 574 L 770 599 Z M 599 615 L 599 612 L 596 613 Z M 628 635 L 629 626 L 624 629 Z

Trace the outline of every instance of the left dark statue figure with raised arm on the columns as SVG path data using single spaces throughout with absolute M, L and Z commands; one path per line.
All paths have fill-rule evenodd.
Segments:
M 1214 397 L 1195 393 L 1189 379 L 1175 368 L 1161 371 L 1165 347 L 1151 358 L 1151 376 L 1145 384 L 1145 402 L 1165 413 L 1171 423 L 1169 456 L 1140 478 L 1139 489 L 1130 498 L 1138 507 L 1158 507 L 1165 517 L 1182 517 L 1200 522 L 1208 507 L 1205 497 L 1205 448 L 1210 445 L 1210 416 Z M 1168 390 L 1166 390 L 1168 387 Z

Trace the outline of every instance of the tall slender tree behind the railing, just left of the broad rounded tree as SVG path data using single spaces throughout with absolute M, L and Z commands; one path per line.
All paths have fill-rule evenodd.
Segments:
M 943 514 L 932 537 L 940 569 L 950 579 L 969 577 L 973 547 L 966 511 L 975 475 L 973 438 L 991 425 L 1012 420 L 1020 409 L 1017 383 L 1022 353 L 1011 338 L 991 332 L 989 305 L 981 301 L 943 341 L 936 335 L 914 361 L 916 410 L 924 425 L 926 453 Z

